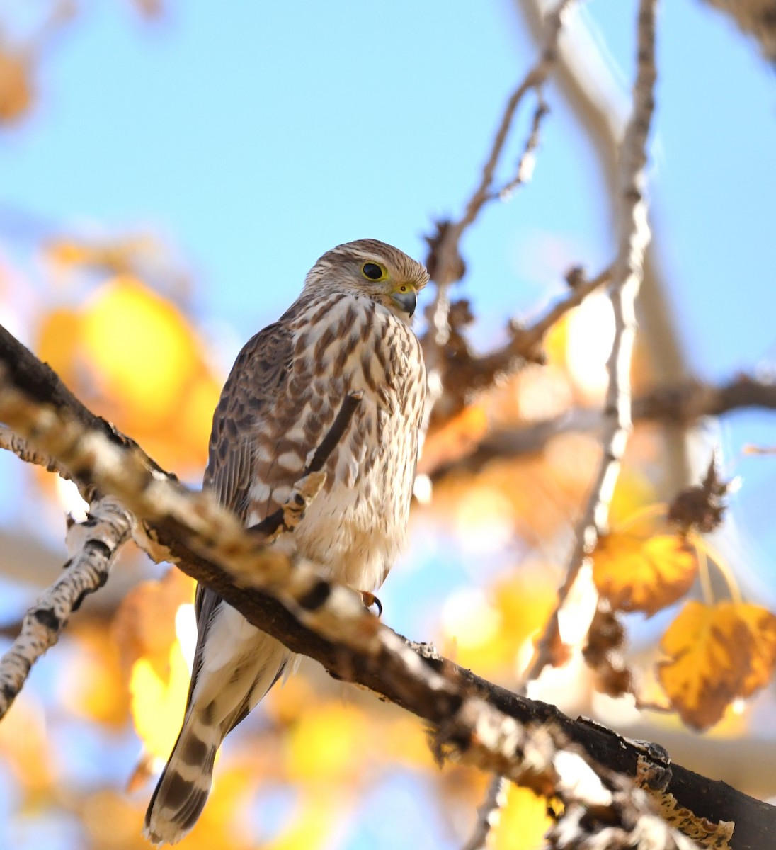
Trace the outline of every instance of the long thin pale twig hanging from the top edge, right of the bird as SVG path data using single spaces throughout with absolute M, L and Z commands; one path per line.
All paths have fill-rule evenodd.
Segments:
M 644 251 L 649 242 L 647 201 L 644 197 L 647 137 L 654 110 L 655 0 L 640 0 L 637 26 L 637 74 L 633 88 L 632 116 L 626 127 L 621 150 L 620 217 L 617 258 L 614 263 L 612 306 L 615 314 L 615 340 L 609 356 L 609 390 L 605 407 L 603 457 L 569 558 L 558 602 L 536 645 L 525 673 L 526 681 L 536 679 L 552 664 L 560 639 L 558 614 L 573 587 L 586 558 L 606 530 L 609 502 L 620 473 L 620 462 L 632 429 L 630 369 L 636 334 L 634 303 L 643 275 Z

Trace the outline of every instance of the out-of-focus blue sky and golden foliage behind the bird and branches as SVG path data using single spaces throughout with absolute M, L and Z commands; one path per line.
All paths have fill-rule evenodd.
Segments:
M 198 485 L 212 409 L 242 343 L 292 303 L 331 246 L 378 238 L 423 259 L 456 217 L 501 109 L 539 51 L 533 0 L 0 4 L 0 321 L 93 411 Z M 615 253 L 611 179 L 627 116 L 636 4 L 569 16 L 530 184 L 467 232 L 468 337 L 507 339 Z M 776 241 L 776 85 L 756 40 L 699 0 L 665 3 L 649 167 L 654 241 L 637 391 L 681 377 L 769 377 Z M 518 114 L 513 175 L 535 104 Z M 428 290 L 427 290 L 428 292 Z M 430 303 L 433 292 L 429 292 Z M 424 321 L 421 319 L 419 331 Z M 380 597 L 384 621 L 513 686 L 551 609 L 593 470 L 594 431 L 467 462 L 485 435 L 600 405 L 611 340 L 591 298 L 553 329 L 548 365 L 501 382 L 429 438 L 430 501 Z M 748 598 L 773 608 L 773 413 L 685 435 L 639 426 L 615 520 L 696 479 L 711 450 L 739 479 L 714 545 Z M 521 432 L 522 433 L 522 432 Z M 430 488 L 428 487 L 430 484 Z M 427 493 L 428 495 L 428 493 Z M 48 473 L 0 456 L 3 641 L 66 559 Z M 163 579 L 162 579 L 163 577 Z M 162 579 L 162 581 L 158 581 Z M 0 723 L 4 847 L 147 847 L 153 774 L 182 716 L 192 588 L 124 551 Z M 675 612 L 673 612 L 675 613 Z M 657 687 L 671 612 L 634 615 L 632 659 Z M 701 738 L 671 714 L 595 694 L 578 659 L 532 695 L 744 791 L 776 793 L 773 693 Z M 312 663 L 229 736 L 201 823 L 181 847 L 455 848 L 487 778 L 439 770 L 422 724 Z M 544 804 L 512 792 L 496 847 L 541 845 Z

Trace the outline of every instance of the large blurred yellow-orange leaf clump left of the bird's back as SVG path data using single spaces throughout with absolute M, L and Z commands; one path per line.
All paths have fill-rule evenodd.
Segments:
M 122 263 L 107 249 L 92 256 L 76 248 L 65 243 L 59 252 L 71 262 Z M 76 394 L 156 460 L 179 472 L 204 466 L 222 379 L 172 301 L 132 275 L 116 275 L 82 309 L 43 316 L 37 348 Z

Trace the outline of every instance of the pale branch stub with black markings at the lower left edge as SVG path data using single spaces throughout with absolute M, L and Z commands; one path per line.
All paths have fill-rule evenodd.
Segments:
M 59 632 L 84 596 L 108 580 L 113 558 L 129 539 L 131 526 L 129 512 L 110 497 L 95 501 L 85 522 L 71 525 L 68 547 L 77 547 L 78 552 L 27 611 L 20 634 L 0 658 L 0 719 L 22 689 L 32 665 L 59 640 Z

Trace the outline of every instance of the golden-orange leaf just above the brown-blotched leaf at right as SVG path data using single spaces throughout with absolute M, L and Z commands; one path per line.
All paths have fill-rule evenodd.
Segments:
M 598 592 L 621 611 L 651 616 L 688 592 L 698 573 L 694 549 L 679 535 L 644 538 L 614 531 L 592 554 Z

